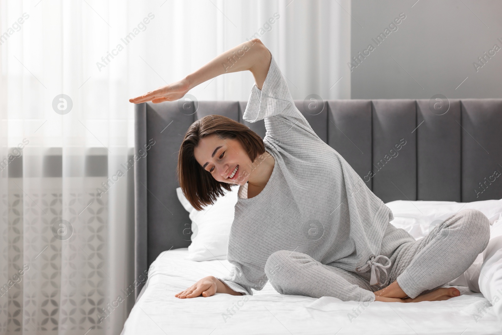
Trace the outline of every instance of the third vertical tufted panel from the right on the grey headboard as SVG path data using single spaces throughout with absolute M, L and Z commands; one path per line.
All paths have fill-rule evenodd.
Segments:
M 372 102 L 371 190 L 384 202 L 416 200 L 416 101 L 379 99 Z

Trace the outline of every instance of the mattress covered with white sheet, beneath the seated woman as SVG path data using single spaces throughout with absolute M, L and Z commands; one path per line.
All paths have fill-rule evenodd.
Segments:
M 152 263 L 143 294 L 122 335 L 502 334 L 495 313 L 486 307 L 488 300 L 462 286 L 456 286 L 462 293 L 458 297 L 418 303 L 281 295 L 270 283 L 253 296 L 216 293 L 179 299 L 174 295 L 197 280 L 208 275 L 221 277 L 230 270 L 226 260 L 194 262 L 184 259 L 187 254 L 187 248 L 165 251 Z M 233 315 L 227 310 L 232 307 Z M 482 316 L 477 322 L 476 314 Z

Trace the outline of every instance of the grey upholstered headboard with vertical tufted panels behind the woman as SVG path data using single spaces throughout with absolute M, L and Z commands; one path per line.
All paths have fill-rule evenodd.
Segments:
M 176 196 L 178 150 L 188 127 L 218 114 L 265 136 L 263 120 L 242 120 L 247 101 L 199 101 L 197 108 L 179 108 L 178 101 L 136 105 L 136 153 L 148 149 L 135 164 L 136 277 L 162 251 L 190 244 L 188 213 Z M 384 202 L 502 198 L 496 177 L 502 172 L 502 99 L 450 99 L 445 114 L 429 102 L 328 100 L 320 113 L 309 113 L 303 101 L 295 104 Z

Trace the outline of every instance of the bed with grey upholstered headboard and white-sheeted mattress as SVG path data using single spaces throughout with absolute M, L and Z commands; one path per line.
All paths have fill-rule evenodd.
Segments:
M 465 208 L 479 201 L 502 201 L 502 181 L 493 179 L 495 170 L 502 171 L 502 99 L 444 102 L 447 109 L 441 113 L 430 107 L 429 100 L 327 100 L 315 113 L 303 101 L 295 104 L 373 193 L 390 207 L 399 205 L 391 207 L 396 213 L 421 201 Z M 456 286 L 462 293 L 459 297 L 411 304 L 281 295 L 270 283 L 253 296 L 175 298 L 200 278 L 221 277 L 230 270 L 225 259 L 187 259 L 190 239 L 182 232 L 191 221 L 176 194 L 177 151 L 188 127 L 211 114 L 243 123 L 263 138 L 263 121 L 242 120 L 245 105 L 246 101 L 136 105 L 136 148 L 146 148 L 147 155 L 135 163 L 135 273 L 148 271 L 148 280 L 136 291 L 123 335 L 502 333 L 490 301 L 465 286 Z M 383 160 L 403 138 L 405 150 Z M 406 217 L 406 210 L 399 217 Z M 395 223 L 398 228 L 407 225 L 406 220 Z M 493 234 L 502 235 L 502 221 L 492 217 L 490 223 Z M 411 222 L 407 229 L 418 234 L 422 226 Z

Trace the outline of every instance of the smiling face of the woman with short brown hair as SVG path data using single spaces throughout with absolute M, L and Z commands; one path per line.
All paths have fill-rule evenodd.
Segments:
M 244 185 L 252 171 L 252 162 L 237 139 L 222 139 L 216 134 L 204 137 L 194 149 L 195 160 L 214 179 Z M 233 172 L 237 168 L 235 174 Z M 230 178 L 232 176 L 233 178 Z

